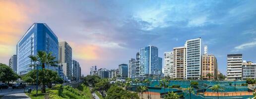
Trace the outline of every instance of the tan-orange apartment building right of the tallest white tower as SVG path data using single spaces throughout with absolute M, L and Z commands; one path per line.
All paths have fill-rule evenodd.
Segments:
M 204 52 L 205 53 L 205 52 Z M 207 53 L 207 52 L 206 52 Z M 212 74 L 214 79 L 218 77 L 218 63 L 217 59 L 213 54 L 203 54 L 202 55 L 202 78 L 208 79 L 207 74 Z M 217 78 L 216 78 L 217 79 Z

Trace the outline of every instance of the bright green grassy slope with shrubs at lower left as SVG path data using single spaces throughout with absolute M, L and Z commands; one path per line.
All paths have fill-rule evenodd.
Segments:
M 93 99 L 90 89 L 88 87 L 82 85 L 78 89 L 74 89 L 69 86 L 63 86 L 55 90 L 47 89 L 46 94 L 38 91 L 37 97 L 36 91 L 32 91 L 30 95 L 28 93 L 26 94 L 31 99 L 44 99 L 45 97 L 48 97 L 50 99 Z

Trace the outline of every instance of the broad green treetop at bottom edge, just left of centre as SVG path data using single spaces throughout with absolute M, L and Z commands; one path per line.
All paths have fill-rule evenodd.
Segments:
M 105 99 L 139 99 L 137 93 L 131 93 L 118 86 L 111 86 Z

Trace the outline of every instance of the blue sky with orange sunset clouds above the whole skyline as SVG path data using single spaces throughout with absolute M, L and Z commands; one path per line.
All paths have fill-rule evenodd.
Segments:
M 226 74 L 227 54 L 256 62 L 256 0 L 0 0 L 0 63 L 33 23 L 46 23 L 72 47 L 82 74 L 114 69 L 139 48 L 159 56 L 202 38 Z

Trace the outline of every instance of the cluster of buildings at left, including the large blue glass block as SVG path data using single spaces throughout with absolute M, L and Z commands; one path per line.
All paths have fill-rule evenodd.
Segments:
M 59 61 L 59 67 L 46 65 L 46 69 L 54 70 L 59 73 L 66 81 L 79 81 L 81 76 L 81 67 L 79 62 L 72 60 L 72 48 L 64 41 L 58 41 L 58 37 L 45 23 L 34 23 L 17 43 L 16 55 L 9 59 L 9 66 L 18 75 L 25 75 L 29 71 L 36 69 L 30 67 L 35 64 L 28 57 L 37 55 L 37 52 L 52 52 L 56 61 Z

